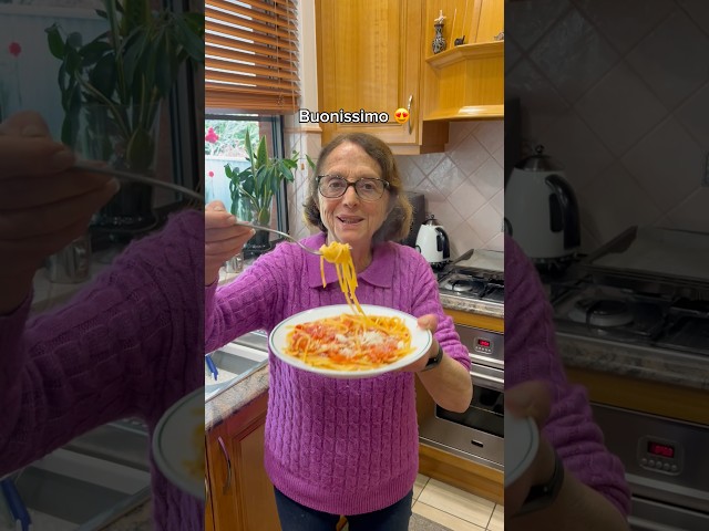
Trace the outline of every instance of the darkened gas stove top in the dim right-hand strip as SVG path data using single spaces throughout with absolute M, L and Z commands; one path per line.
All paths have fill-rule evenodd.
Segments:
M 598 284 L 587 275 L 552 284 L 556 330 L 692 355 L 709 355 L 709 301 Z

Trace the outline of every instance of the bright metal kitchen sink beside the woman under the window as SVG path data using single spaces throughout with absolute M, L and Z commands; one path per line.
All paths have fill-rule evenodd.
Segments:
M 253 332 L 210 353 L 217 367 L 215 382 L 205 364 L 205 400 L 210 400 L 268 363 L 267 337 L 265 333 Z

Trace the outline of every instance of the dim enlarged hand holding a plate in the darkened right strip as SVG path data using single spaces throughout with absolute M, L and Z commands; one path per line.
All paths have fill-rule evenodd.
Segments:
M 531 417 L 540 429 L 540 448 L 534 461 L 514 483 L 505 488 L 505 514 L 510 517 L 517 513 L 533 486 L 547 482 L 554 473 L 554 449 L 541 431 L 551 407 L 552 397 L 543 382 L 525 382 L 505 389 L 506 413 L 520 418 Z

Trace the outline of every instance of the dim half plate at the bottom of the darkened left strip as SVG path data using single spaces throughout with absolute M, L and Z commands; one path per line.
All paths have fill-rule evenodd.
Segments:
M 199 428 L 204 433 L 204 387 L 184 396 L 165 412 L 153 434 L 153 457 L 171 483 L 204 500 L 204 477 L 194 477 L 187 467 L 188 462 L 204 458 L 204 449 L 193 446 L 194 431 Z

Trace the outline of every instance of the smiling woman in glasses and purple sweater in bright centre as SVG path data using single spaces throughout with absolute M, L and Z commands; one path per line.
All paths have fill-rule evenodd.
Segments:
M 363 379 L 325 377 L 271 355 L 265 467 L 284 530 L 332 530 L 341 514 L 352 531 L 407 530 L 418 470 L 414 378 L 442 407 L 465 410 L 467 350 L 443 313 L 430 266 L 394 242 L 408 232 L 411 206 L 389 147 L 370 135 L 339 136 L 322 149 L 315 175 L 305 218 L 319 232 L 302 243 L 348 243 L 359 301 L 419 317 L 434 341 L 404 369 Z M 345 302 L 335 269 L 326 268 L 323 289 L 319 258 L 295 243 L 277 246 L 217 291 L 219 266 L 253 231 L 235 227 L 220 204 L 208 205 L 205 218 L 205 352 Z

